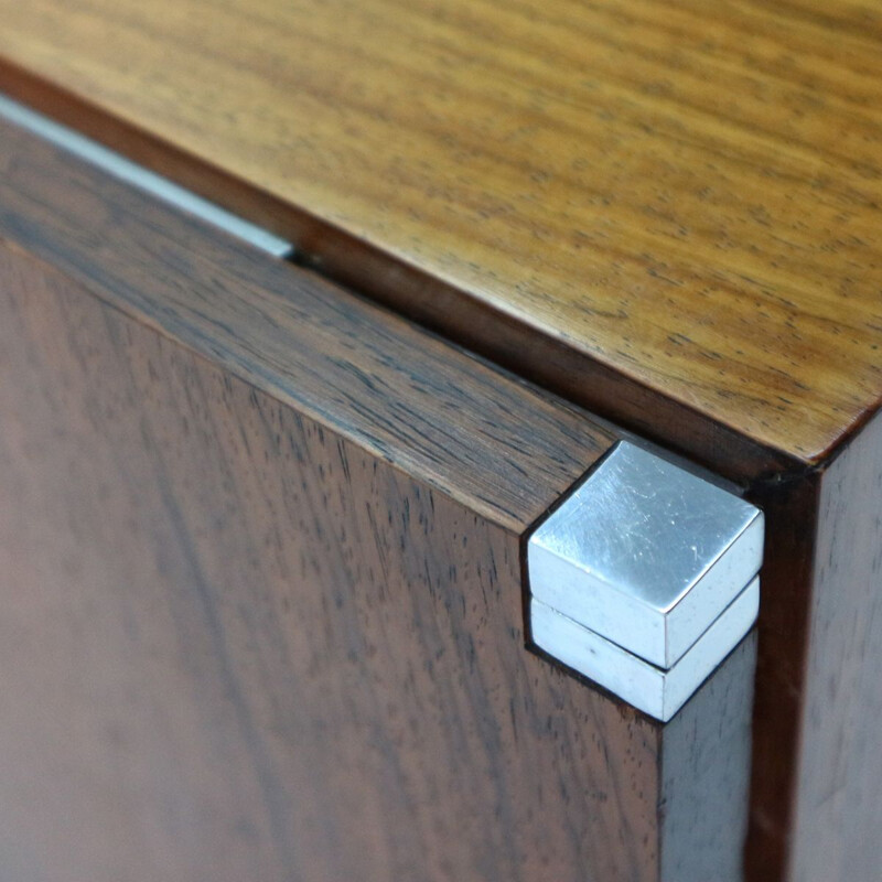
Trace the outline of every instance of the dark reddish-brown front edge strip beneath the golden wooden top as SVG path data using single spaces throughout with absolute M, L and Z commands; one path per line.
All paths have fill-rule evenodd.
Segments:
M 800 473 L 826 463 L 766 447 L 538 333 L 528 322 L 478 302 L 441 279 L 357 239 L 308 211 L 166 143 L 100 107 L 0 57 L 0 88 L 147 168 L 294 243 L 301 265 L 458 341 L 556 395 L 740 482 Z M 868 416 L 869 418 L 869 416 Z M 851 427 L 856 431 L 859 426 Z M 847 438 L 841 439 L 842 441 Z

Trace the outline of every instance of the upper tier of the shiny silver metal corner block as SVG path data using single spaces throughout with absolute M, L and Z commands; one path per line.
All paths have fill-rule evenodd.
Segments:
M 744 590 L 763 514 L 620 442 L 530 537 L 530 592 L 659 668 L 671 668 Z

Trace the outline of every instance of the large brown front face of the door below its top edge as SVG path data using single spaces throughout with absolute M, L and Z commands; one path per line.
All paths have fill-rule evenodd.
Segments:
M 655 879 L 520 537 L 0 251 L 3 874 Z

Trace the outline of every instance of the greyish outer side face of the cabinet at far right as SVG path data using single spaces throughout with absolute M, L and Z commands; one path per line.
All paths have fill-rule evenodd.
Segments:
M 882 868 L 882 419 L 824 474 L 790 878 Z

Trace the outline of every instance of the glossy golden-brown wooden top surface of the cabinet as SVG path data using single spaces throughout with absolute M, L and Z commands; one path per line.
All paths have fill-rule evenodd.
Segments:
M 486 337 L 527 325 L 811 462 L 882 392 L 880 10 L 0 0 L 0 87 L 54 84 L 490 304 Z

